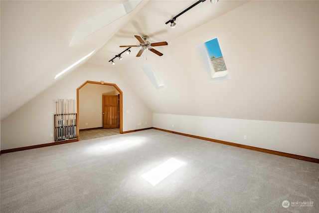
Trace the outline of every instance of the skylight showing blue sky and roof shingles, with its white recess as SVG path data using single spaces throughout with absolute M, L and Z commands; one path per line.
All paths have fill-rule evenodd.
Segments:
M 228 80 L 228 72 L 217 38 L 197 45 L 210 81 Z

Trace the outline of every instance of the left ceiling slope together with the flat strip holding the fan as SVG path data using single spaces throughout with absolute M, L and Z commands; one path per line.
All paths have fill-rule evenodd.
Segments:
M 165 22 L 196 0 L 143 0 L 132 12 L 69 46 L 80 23 L 124 1 L 1 0 L 1 120 L 58 81 L 56 74 L 93 50 L 83 63 L 110 67 L 108 61 L 125 49 L 119 45 L 138 45 L 134 35 L 148 35 L 150 42 L 168 42 L 168 46 L 155 48 L 166 55 L 170 41 L 247 2 L 220 0 L 211 4 L 206 0 L 179 16 L 171 29 Z M 132 54 L 116 68 L 138 62 L 138 51 L 132 47 Z

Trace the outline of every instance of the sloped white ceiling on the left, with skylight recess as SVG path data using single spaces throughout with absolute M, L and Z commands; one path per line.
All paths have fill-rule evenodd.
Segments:
M 80 23 L 122 2 L 1 0 L 1 120 L 58 81 L 56 74 L 97 52 L 146 3 L 69 45 Z

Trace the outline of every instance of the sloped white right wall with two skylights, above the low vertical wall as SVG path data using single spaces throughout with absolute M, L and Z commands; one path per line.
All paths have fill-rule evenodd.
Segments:
M 230 80 L 210 82 L 196 46 L 216 37 Z M 120 70 L 152 112 L 319 123 L 319 1 L 249 1 L 167 42 Z

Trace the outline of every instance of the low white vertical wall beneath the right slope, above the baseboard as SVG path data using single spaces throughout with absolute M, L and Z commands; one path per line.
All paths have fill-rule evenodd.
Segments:
M 153 113 L 153 126 L 319 159 L 319 124 Z

